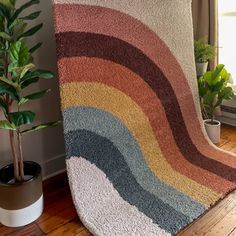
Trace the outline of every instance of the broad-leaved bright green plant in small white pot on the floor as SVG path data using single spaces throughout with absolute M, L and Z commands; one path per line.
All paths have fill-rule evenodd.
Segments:
M 202 113 L 205 118 L 206 132 L 213 143 L 220 142 L 220 122 L 214 119 L 214 112 L 223 100 L 233 98 L 233 89 L 227 86 L 229 73 L 224 65 L 218 65 L 215 70 L 207 71 L 198 79 L 199 96 Z

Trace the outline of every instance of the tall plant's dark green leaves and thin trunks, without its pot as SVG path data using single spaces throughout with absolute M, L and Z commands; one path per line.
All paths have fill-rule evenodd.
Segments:
M 25 41 L 43 26 L 38 24 L 28 28 L 28 21 L 40 15 L 40 11 L 28 14 L 28 8 L 39 2 L 30 0 L 17 8 L 16 0 L 0 0 L 0 111 L 4 117 L 0 120 L 0 129 L 9 131 L 15 181 L 24 181 L 23 136 L 59 123 L 33 126 L 36 114 L 25 108 L 27 103 L 42 98 L 50 91 L 26 92 L 25 89 L 39 80 L 54 77 L 52 72 L 37 69 L 34 64 L 32 54 L 42 43 L 29 48 Z

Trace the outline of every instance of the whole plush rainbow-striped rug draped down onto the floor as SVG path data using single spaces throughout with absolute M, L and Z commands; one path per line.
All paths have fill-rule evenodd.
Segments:
M 190 0 L 54 0 L 78 214 L 101 236 L 172 235 L 236 188 L 203 130 Z

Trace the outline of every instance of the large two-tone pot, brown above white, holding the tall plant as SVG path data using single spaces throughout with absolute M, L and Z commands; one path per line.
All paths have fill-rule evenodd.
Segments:
M 30 224 L 43 212 L 41 167 L 25 161 L 24 171 L 26 180 L 15 182 L 13 164 L 0 169 L 0 223 L 8 227 Z

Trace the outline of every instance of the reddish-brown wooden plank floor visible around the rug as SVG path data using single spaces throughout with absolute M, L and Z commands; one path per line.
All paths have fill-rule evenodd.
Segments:
M 236 128 L 223 127 L 219 146 L 236 153 Z M 0 225 L 0 236 L 92 235 L 83 226 L 76 214 L 66 174 L 61 174 L 45 181 L 44 195 L 45 210 L 36 222 L 14 229 Z M 236 192 L 228 195 L 228 197 L 178 235 L 236 236 Z

